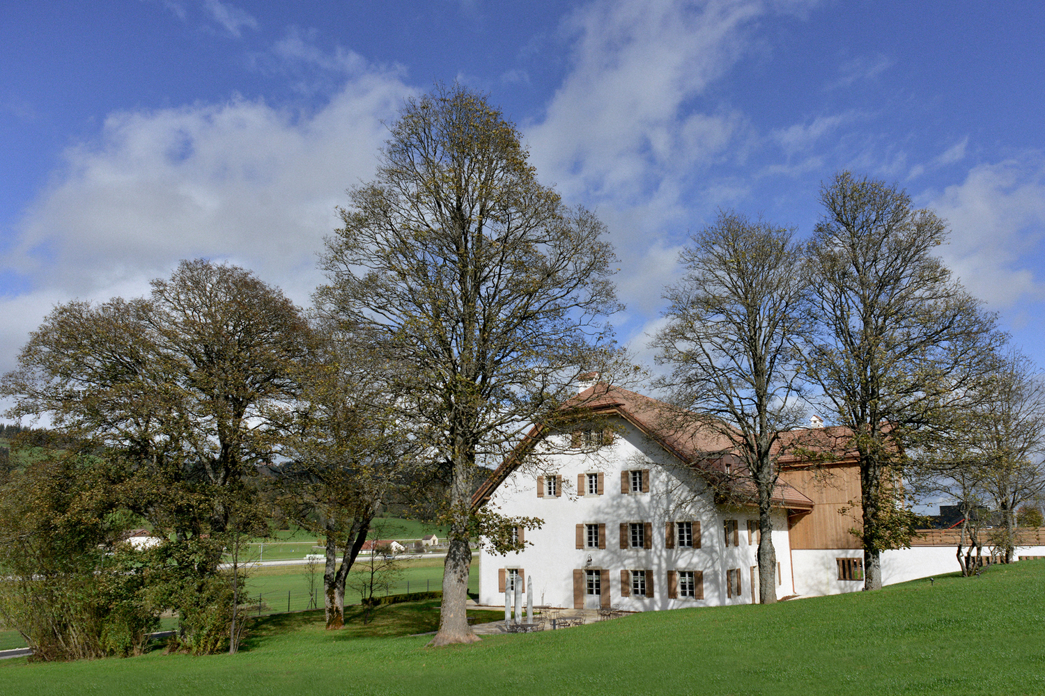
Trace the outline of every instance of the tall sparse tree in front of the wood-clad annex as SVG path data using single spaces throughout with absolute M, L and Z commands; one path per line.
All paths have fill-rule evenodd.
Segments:
M 807 248 L 818 334 L 806 371 L 854 434 L 864 586 L 878 590 L 881 551 L 908 545 L 916 520 L 901 498 L 904 453 L 946 427 L 1003 336 L 933 256 L 944 220 L 911 209 L 904 190 L 844 171 L 820 202 Z

